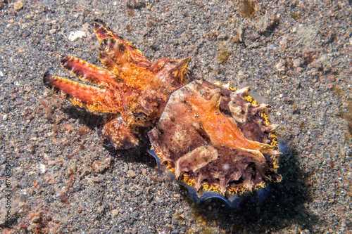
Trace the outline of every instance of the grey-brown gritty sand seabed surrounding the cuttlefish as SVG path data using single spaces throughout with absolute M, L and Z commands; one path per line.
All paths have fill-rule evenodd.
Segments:
M 352 233 L 351 1 L 252 2 L 0 1 L 4 233 Z M 270 104 L 284 154 L 268 199 L 194 204 L 146 152 L 103 147 L 102 115 L 44 88 L 47 70 L 69 77 L 58 55 L 100 65 L 95 18 L 151 61 L 191 56 L 196 77 Z

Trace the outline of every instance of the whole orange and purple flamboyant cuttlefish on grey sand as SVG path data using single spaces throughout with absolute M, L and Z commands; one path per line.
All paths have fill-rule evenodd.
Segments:
M 105 141 L 118 150 L 134 148 L 139 133 L 153 127 L 151 155 L 189 188 L 195 201 L 220 197 L 234 206 L 238 195 L 281 180 L 277 126 L 268 119 L 268 105 L 259 105 L 248 87 L 194 79 L 187 68 L 190 58 L 151 63 L 101 20 L 91 26 L 106 69 L 72 56 L 60 61 L 96 86 L 50 72 L 43 82 L 74 105 L 114 114 L 99 131 Z

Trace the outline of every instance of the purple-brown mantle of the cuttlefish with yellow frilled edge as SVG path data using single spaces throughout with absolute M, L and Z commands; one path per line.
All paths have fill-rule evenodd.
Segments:
M 277 125 L 249 88 L 195 80 L 170 96 L 148 136 L 178 181 L 233 197 L 278 182 Z M 207 194 L 207 193 L 206 193 Z

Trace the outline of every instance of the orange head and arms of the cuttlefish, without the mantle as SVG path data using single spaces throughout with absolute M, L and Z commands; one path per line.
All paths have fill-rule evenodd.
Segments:
M 190 58 L 161 58 L 149 62 L 129 41 L 122 39 L 101 20 L 91 24 L 100 41 L 99 58 L 104 68 L 73 56 L 61 56 L 61 66 L 89 86 L 46 72 L 44 85 L 91 112 L 115 114 L 101 129 L 101 136 L 116 149 L 139 145 L 139 128 L 153 126 L 172 92 L 191 79 Z

